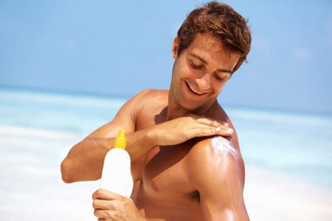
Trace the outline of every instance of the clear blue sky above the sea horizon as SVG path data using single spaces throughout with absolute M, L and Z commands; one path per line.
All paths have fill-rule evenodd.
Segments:
M 171 44 L 202 1 L 0 1 L 0 85 L 132 96 L 168 89 Z M 225 1 L 252 31 L 224 104 L 332 113 L 332 2 Z

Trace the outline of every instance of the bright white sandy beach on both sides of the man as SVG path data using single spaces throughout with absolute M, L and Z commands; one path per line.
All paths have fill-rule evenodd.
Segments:
M 60 162 L 80 134 L 0 126 L 0 218 L 96 220 L 99 181 L 65 184 Z M 246 165 L 245 202 L 251 220 L 332 220 L 332 191 L 289 175 Z

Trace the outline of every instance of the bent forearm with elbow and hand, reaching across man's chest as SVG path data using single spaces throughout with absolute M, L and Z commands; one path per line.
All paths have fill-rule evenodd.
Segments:
M 180 125 L 180 126 L 179 126 Z M 232 131 L 222 122 L 197 115 L 179 117 L 127 134 L 131 161 L 147 154 L 157 145 L 169 146 L 195 137 L 229 136 Z M 113 148 L 114 138 L 88 137 L 73 146 L 61 163 L 62 180 L 66 183 L 92 181 L 101 177 L 106 153 Z

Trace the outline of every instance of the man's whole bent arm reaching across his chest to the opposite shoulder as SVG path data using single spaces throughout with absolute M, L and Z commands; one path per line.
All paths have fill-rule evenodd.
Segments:
M 138 163 L 135 161 L 157 145 L 176 145 L 194 137 L 232 134 L 233 131 L 223 122 L 197 115 L 179 117 L 135 131 L 139 113 L 144 112 L 144 105 L 151 106 L 158 98 L 156 93 L 156 90 L 139 93 L 123 105 L 112 121 L 73 146 L 61 163 L 62 180 L 72 183 L 100 179 L 104 157 L 113 148 L 119 129 L 126 130 L 126 150 L 130 155 L 132 168 L 135 169 L 139 167 L 135 165 Z M 135 182 L 138 176 L 135 176 L 135 171 L 132 171 L 132 175 Z

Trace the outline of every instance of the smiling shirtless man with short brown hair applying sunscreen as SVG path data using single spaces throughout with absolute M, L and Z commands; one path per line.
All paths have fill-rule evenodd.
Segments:
M 250 43 L 246 21 L 230 6 L 195 9 L 173 41 L 170 90 L 140 92 L 71 148 L 63 181 L 97 180 L 119 129 L 126 131 L 133 193 L 97 190 L 98 220 L 249 220 L 237 135 L 216 98 Z

